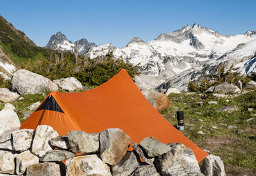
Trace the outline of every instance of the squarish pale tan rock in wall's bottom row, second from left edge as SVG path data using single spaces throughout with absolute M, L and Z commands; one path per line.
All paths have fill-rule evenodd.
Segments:
M 26 172 L 26 168 L 30 165 L 39 163 L 39 158 L 31 153 L 30 150 L 26 150 L 23 153 L 16 155 L 16 173 L 18 175 Z

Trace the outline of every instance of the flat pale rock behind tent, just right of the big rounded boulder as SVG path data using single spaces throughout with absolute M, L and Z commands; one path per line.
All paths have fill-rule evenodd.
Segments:
M 81 82 L 78 81 L 78 79 L 75 79 L 75 77 L 67 77 L 67 78 L 61 78 L 53 80 L 61 89 L 68 90 L 68 91 L 74 91 L 74 90 L 80 90 L 83 89 Z

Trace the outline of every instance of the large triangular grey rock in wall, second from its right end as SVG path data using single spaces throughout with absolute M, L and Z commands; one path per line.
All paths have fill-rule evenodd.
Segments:
M 198 161 L 196 160 L 191 148 L 186 148 L 183 155 L 181 155 L 181 158 L 174 161 L 174 163 L 161 172 L 161 174 L 163 176 L 203 176 L 198 165 Z

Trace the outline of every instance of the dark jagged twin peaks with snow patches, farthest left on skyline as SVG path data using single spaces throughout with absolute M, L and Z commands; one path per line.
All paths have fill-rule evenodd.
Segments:
M 56 33 L 50 37 L 46 48 L 51 48 L 53 50 L 64 50 L 75 52 L 78 54 L 85 55 L 91 47 L 97 47 L 95 43 L 89 43 L 85 38 L 75 41 L 72 43 L 63 33 Z

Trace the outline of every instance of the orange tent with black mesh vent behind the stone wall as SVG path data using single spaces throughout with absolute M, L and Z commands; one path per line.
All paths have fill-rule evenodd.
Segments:
M 154 109 L 124 69 L 95 89 L 50 92 L 21 128 L 36 129 L 39 124 L 52 126 L 60 136 L 73 130 L 94 133 L 120 128 L 136 143 L 154 136 L 166 144 L 183 143 L 198 162 L 208 155 Z

